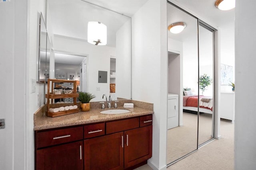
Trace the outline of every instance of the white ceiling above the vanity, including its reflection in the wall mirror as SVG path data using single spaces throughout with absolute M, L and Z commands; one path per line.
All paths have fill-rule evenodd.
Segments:
M 88 21 L 100 21 L 107 26 L 107 45 L 115 47 L 116 31 L 130 18 L 84 1 L 132 16 L 148 0 L 48 0 L 53 34 L 87 40 Z

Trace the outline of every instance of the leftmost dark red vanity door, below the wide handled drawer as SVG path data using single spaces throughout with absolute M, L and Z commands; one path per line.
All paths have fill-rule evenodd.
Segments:
M 83 142 L 36 150 L 36 170 L 83 170 Z

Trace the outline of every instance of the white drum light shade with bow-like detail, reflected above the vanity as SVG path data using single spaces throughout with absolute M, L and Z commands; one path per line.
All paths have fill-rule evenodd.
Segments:
M 94 45 L 107 44 L 107 26 L 103 23 L 98 21 L 89 21 L 87 33 L 88 43 Z

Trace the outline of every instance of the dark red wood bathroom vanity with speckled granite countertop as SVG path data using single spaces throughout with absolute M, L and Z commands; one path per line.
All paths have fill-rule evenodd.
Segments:
M 154 111 L 140 107 L 122 114 L 100 111 L 37 116 L 36 170 L 123 170 L 146 164 L 152 156 Z

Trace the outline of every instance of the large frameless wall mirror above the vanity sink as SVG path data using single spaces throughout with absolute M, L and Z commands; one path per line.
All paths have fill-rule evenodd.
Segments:
M 74 80 L 79 81 L 79 91 L 96 95 L 92 102 L 104 100 L 103 94 L 111 94 L 112 100 L 130 99 L 131 18 L 85 0 L 49 0 L 48 6 L 54 78 L 67 79 L 74 75 Z M 88 21 L 106 25 L 107 45 L 87 42 Z M 111 59 L 116 61 L 115 71 L 110 68 Z M 106 82 L 98 81 L 99 71 L 107 72 Z M 110 84 L 114 84 L 114 91 L 110 91 Z

